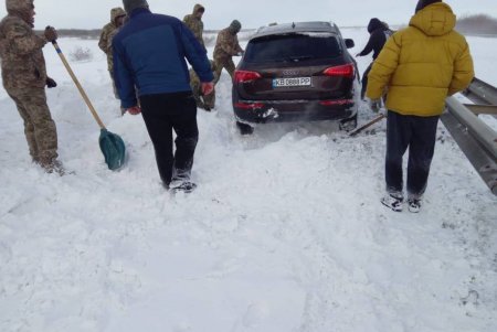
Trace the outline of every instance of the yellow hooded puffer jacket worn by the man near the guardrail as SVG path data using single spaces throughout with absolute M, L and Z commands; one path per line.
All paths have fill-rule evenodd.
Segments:
M 410 26 L 387 41 L 368 75 L 366 95 L 378 99 L 387 93 L 387 108 L 402 115 L 441 115 L 445 98 L 474 77 L 469 46 L 454 25 L 445 3 L 420 10 Z

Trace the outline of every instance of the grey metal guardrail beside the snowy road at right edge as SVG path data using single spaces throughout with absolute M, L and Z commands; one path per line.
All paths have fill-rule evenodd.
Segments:
M 475 103 L 497 106 L 497 88 L 475 78 L 465 95 Z M 447 110 L 441 117 L 466 158 L 490 191 L 497 195 L 497 132 L 455 97 L 446 100 Z

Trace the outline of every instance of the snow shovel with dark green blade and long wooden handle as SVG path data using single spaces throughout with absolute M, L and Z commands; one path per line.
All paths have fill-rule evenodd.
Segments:
M 71 69 L 71 66 L 65 58 L 64 54 L 62 53 L 61 49 L 59 47 L 59 44 L 56 41 L 52 42 L 53 46 L 55 47 L 55 51 L 57 52 L 59 56 L 62 60 L 62 63 L 64 64 L 65 68 L 67 69 L 68 74 L 74 81 L 74 84 L 76 85 L 77 89 L 80 90 L 83 99 L 85 100 L 86 105 L 88 106 L 89 110 L 92 111 L 93 117 L 97 121 L 98 126 L 101 127 L 101 137 L 98 138 L 98 143 L 101 146 L 102 153 L 104 153 L 105 157 L 105 163 L 107 163 L 107 167 L 112 171 L 116 171 L 123 167 L 126 159 L 126 148 L 123 139 L 110 131 L 108 131 L 104 122 L 102 122 L 98 114 L 96 113 L 95 108 L 93 107 L 92 103 L 89 101 L 88 96 L 86 95 L 85 90 L 81 86 L 80 82 L 76 78 L 76 75 L 74 75 L 74 72 Z

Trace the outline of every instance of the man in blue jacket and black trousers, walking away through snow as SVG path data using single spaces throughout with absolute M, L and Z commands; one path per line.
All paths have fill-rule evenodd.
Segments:
M 123 4 L 129 21 L 113 40 L 114 78 L 121 106 L 134 115 L 141 111 L 165 186 L 191 192 L 197 186 L 190 173 L 199 129 L 186 58 L 200 77 L 203 94 L 209 95 L 214 76 L 205 49 L 180 20 L 151 13 L 146 0 L 123 0 Z

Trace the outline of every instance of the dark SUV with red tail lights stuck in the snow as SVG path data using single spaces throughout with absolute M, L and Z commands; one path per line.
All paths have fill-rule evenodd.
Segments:
M 251 38 L 233 82 L 242 133 L 255 124 L 339 120 L 357 126 L 357 65 L 337 25 L 302 22 L 263 26 Z

